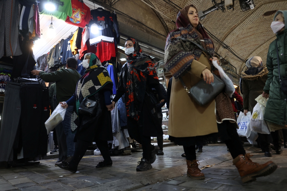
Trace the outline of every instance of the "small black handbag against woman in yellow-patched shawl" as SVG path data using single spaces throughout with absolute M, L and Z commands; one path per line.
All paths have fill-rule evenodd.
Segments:
M 92 100 L 90 97 L 87 97 L 80 103 L 78 113 L 87 116 L 94 116 L 99 104 L 99 99 Z

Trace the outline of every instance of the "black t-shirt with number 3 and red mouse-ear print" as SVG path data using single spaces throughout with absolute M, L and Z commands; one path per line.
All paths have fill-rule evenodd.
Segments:
M 110 14 L 110 11 L 106 11 L 101 8 L 92 10 L 91 21 L 89 23 L 89 26 L 92 26 L 92 24 L 94 23 L 98 25 L 99 32 L 97 34 L 93 34 L 90 32 L 90 39 L 95 38 L 100 35 L 114 37 L 113 17 Z

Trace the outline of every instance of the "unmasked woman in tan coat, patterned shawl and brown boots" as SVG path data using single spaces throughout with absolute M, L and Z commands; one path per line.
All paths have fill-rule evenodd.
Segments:
M 236 131 L 238 126 L 231 101 L 225 91 L 208 104 L 199 106 L 183 88 L 180 78 L 188 89 L 202 78 L 206 83 L 212 83 L 212 72 L 218 75 L 212 60 L 218 63 L 219 61 L 216 57 L 210 58 L 201 48 L 187 41 L 193 41 L 211 55 L 214 54 L 213 42 L 199 23 L 195 6 L 188 5 L 181 9 L 176 25 L 177 30 L 171 31 L 166 39 L 164 56 L 165 66 L 174 77 L 170 95 L 168 135 L 171 141 L 183 145 L 187 159 L 187 176 L 196 180 L 205 178 L 198 168 L 195 144 L 216 133 L 225 141 L 244 183 L 271 174 L 277 168 L 275 163 L 269 161 L 260 165 L 253 163 L 246 155 Z

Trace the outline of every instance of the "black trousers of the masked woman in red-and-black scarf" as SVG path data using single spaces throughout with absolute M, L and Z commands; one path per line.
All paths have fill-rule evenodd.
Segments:
M 128 117 L 127 126 L 129 131 L 129 136 L 135 139 L 138 143 L 142 145 L 143 148 L 143 158 L 150 160 L 150 153 L 154 149 L 154 146 L 151 145 L 150 137 L 144 136 L 143 127 L 139 126 L 137 121 Z

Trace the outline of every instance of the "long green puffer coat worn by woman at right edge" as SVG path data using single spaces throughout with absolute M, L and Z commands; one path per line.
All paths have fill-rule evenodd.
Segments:
M 278 15 L 278 12 L 275 17 Z M 278 39 L 280 76 L 282 79 L 287 77 L 287 11 L 280 12 L 285 17 L 285 30 L 276 34 Z M 266 66 L 269 73 L 263 90 L 265 93 L 269 93 L 269 100 L 266 104 L 264 120 L 284 126 L 287 124 L 287 97 L 282 92 L 279 82 L 276 42 L 276 40 L 271 42 L 267 54 Z

